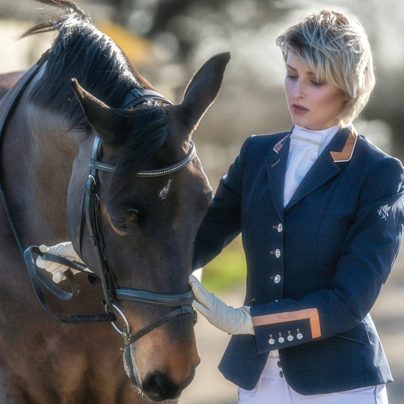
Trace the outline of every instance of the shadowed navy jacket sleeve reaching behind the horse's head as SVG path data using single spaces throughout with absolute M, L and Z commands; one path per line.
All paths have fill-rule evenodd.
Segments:
M 248 137 L 218 189 L 195 239 L 193 269 L 212 261 L 241 231 L 241 177 Z

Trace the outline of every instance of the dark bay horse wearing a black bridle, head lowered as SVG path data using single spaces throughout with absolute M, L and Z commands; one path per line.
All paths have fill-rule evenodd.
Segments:
M 191 135 L 230 55 L 174 105 L 75 4 L 36 1 L 58 15 L 24 35 L 57 37 L 0 78 L 0 403 L 177 402 L 200 361 L 188 275 L 212 198 Z M 68 301 L 32 269 L 32 246 L 66 240 L 93 272 L 58 284 Z

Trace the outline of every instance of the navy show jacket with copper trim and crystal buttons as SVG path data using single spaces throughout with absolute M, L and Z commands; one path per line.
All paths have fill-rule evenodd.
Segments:
M 342 129 L 284 209 L 289 137 L 247 138 L 195 240 L 198 268 L 242 234 L 255 335 L 232 336 L 219 369 L 251 390 L 279 349 L 300 394 L 392 381 L 369 312 L 404 230 L 403 167 L 353 127 Z

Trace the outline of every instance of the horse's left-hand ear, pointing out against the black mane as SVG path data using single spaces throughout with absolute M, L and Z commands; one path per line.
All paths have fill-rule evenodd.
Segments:
M 122 143 L 122 134 L 125 133 L 124 125 L 127 118 L 125 119 L 111 107 L 91 95 L 80 86 L 76 79 L 72 79 L 72 87 L 89 124 L 97 135 L 105 142 Z

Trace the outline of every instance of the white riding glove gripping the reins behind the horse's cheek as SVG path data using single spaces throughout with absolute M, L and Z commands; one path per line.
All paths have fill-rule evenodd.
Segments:
M 39 249 L 42 252 L 50 252 L 51 254 L 62 256 L 70 261 L 76 261 L 79 264 L 84 265 L 83 261 L 81 261 L 80 257 L 76 254 L 76 251 L 74 250 L 73 245 L 70 241 L 56 244 L 53 245 L 52 247 L 47 247 L 46 245 L 42 244 L 39 246 Z M 38 257 L 36 259 L 36 265 L 39 268 L 43 268 L 47 272 L 50 272 L 52 274 L 52 280 L 55 283 L 59 283 L 64 279 L 66 279 L 66 276 L 63 273 L 69 269 L 69 267 L 66 267 L 66 265 L 58 264 L 52 261 L 47 261 L 44 260 L 42 257 Z M 73 272 L 73 274 L 77 274 L 80 272 L 72 268 L 70 270 Z M 88 268 L 86 268 L 86 271 L 91 272 Z

